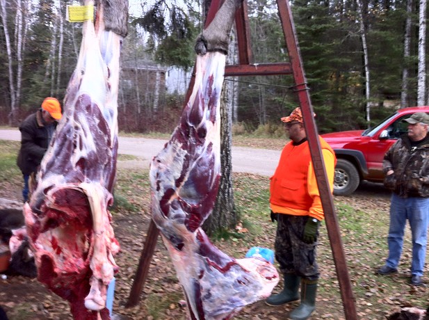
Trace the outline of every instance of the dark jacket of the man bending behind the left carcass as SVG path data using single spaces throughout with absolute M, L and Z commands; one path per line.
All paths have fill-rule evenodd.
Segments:
M 23 175 L 30 175 L 38 170 L 40 161 L 49 146 L 49 132 L 43 125 L 42 111 L 38 110 L 29 115 L 19 126 L 19 131 L 21 131 L 21 149 L 17 165 Z

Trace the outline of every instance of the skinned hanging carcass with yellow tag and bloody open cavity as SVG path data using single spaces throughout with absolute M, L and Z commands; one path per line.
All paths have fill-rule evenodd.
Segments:
M 93 2 L 86 3 L 87 6 Z M 70 302 L 74 319 L 109 319 L 106 287 L 119 245 L 108 206 L 118 153 L 118 83 L 128 1 L 100 0 L 83 23 L 65 113 L 24 205 L 38 280 Z

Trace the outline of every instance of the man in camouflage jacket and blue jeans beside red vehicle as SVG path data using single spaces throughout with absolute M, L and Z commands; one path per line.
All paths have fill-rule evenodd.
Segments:
M 429 222 L 429 115 L 418 112 L 404 121 L 408 122 L 407 134 L 391 146 L 383 161 L 385 186 L 393 193 L 387 237 L 389 257 L 378 273 L 398 271 L 408 220 L 412 232 L 411 284 L 423 285 Z

